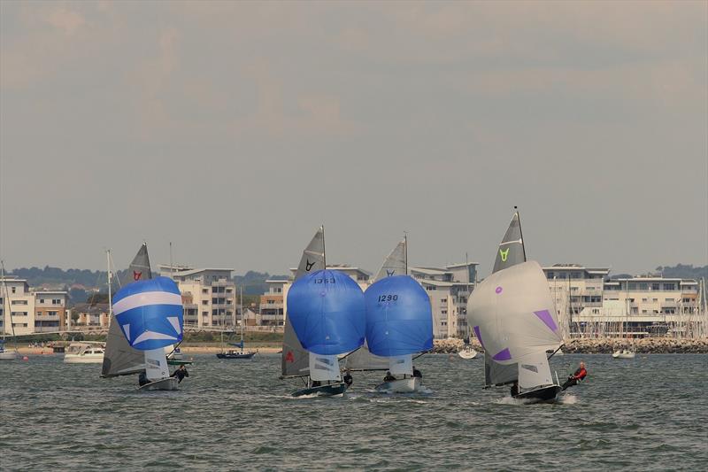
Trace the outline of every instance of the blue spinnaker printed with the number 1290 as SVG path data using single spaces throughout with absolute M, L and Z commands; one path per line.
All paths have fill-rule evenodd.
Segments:
M 364 295 L 369 351 L 391 357 L 433 348 L 430 298 L 410 275 L 385 277 Z

